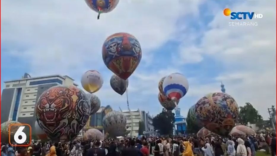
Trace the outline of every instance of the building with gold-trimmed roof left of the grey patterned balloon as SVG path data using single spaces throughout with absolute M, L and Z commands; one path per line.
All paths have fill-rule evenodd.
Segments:
M 103 121 L 104 116 L 111 111 L 112 111 L 111 106 L 109 106 L 109 105 L 107 105 L 106 107 L 101 106 L 95 114 L 92 114 L 90 116 L 86 125 L 83 128 L 83 132 L 86 132 L 87 130 L 89 130 L 91 128 L 95 128 L 95 129 L 100 130 L 104 134 L 105 132 L 104 132 L 104 127 L 103 127 L 102 121 Z

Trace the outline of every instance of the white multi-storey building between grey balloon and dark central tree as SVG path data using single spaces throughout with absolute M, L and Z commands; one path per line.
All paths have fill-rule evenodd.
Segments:
M 136 111 L 122 111 L 122 113 L 126 116 L 127 119 L 126 126 L 128 136 L 138 136 L 139 122 L 142 122 L 144 124 L 145 132 L 154 131 L 154 126 L 152 124 L 153 118 L 149 115 L 149 112 L 146 113 L 145 111 L 140 111 L 138 109 Z

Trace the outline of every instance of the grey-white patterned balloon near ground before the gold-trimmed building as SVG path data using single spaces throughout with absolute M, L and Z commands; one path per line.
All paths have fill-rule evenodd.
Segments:
M 106 133 L 112 137 L 124 136 L 126 130 L 126 117 L 119 111 L 111 111 L 103 118 Z

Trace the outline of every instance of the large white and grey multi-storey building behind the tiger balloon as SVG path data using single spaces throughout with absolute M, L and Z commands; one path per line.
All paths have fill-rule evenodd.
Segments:
M 5 81 L 1 94 L 1 123 L 14 120 L 34 127 L 35 104 L 39 96 L 52 86 L 78 86 L 69 76 L 48 75 Z

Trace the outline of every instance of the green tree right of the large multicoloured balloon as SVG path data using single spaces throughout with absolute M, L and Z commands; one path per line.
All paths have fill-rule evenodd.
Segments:
M 263 122 L 263 119 L 251 103 L 245 103 L 243 107 L 239 108 L 238 122 L 243 125 L 247 125 L 248 122 L 250 124 L 259 124 Z

